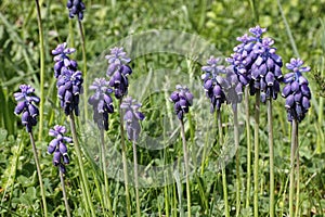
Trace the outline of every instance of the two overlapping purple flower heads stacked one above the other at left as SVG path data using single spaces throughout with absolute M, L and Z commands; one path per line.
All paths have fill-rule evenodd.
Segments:
M 66 115 L 75 112 L 79 115 L 79 95 L 83 92 L 82 89 L 82 73 L 77 69 L 78 64 L 76 61 L 69 60 L 67 54 L 75 52 L 73 48 L 66 48 L 66 43 L 58 44 L 52 51 L 55 65 L 54 73 L 57 88 L 57 97 L 60 98 L 61 107 Z

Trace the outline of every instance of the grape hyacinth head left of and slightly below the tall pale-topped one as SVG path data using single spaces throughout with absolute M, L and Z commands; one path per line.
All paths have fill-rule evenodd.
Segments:
M 113 100 L 109 93 L 113 92 L 108 88 L 108 81 L 105 78 L 95 78 L 89 87 L 95 93 L 88 99 L 88 103 L 93 107 L 93 120 L 100 129 L 108 130 L 108 114 L 114 113 Z

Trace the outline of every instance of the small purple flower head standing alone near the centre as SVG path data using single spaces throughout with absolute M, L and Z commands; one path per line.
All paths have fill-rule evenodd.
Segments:
M 180 120 L 183 119 L 184 114 L 188 113 L 190 106 L 193 104 L 193 94 L 188 88 L 177 85 L 177 91 L 172 92 L 170 100 L 174 103 L 174 112 Z

